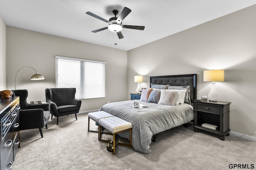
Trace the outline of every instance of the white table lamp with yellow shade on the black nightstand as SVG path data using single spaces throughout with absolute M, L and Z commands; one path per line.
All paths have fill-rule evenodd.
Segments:
M 215 82 L 224 81 L 224 70 L 205 70 L 204 82 L 212 82 L 212 89 L 208 94 L 210 102 L 217 102 L 218 93 L 215 88 Z

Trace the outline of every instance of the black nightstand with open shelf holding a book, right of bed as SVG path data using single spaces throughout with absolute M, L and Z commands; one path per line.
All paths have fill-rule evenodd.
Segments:
M 229 106 L 231 102 L 198 102 L 194 103 L 194 131 L 199 130 L 220 135 L 220 140 L 225 140 L 225 135 L 229 136 Z M 210 127 L 202 127 L 202 124 L 218 126 L 216 130 Z

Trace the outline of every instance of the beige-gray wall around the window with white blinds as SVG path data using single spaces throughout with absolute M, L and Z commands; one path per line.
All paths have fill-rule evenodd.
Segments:
M 127 51 L 7 26 L 7 89 L 13 90 L 16 72 L 31 66 L 45 80 L 30 80 L 34 70 L 18 72 L 17 89 L 28 90 L 28 102 L 45 102 L 45 89 L 55 88 L 55 55 L 106 61 L 106 98 L 82 100 L 80 111 L 99 109 L 108 101 L 126 100 Z

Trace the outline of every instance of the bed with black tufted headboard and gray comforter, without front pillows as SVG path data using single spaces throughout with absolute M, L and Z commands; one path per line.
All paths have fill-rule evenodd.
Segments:
M 142 101 L 142 99 L 126 100 L 105 104 L 100 110 L 132 123 L 132 147 L 140 152 L 149 153 L 151 151 L 150 143 L 154 135 L 194 119 L 191 102 L 196 99 L 196 76 L 196 74 L 183 74 L 150 77 L 150 88 L 156 91 L 158 91 L 154 88 L 156 85 L 165 85 L 168 88 L 170 87 L 170 89 L 173 87 L 190 87 L 190 90 L 182 90 L 186 91 L 186 96 L 188 97 L 185 99 L 184 104 L 169 106 Z M 163 94 L 163 91 L 161 92 Z M 147 107 L 132 108 L 128 106 L 128 104 L 132 105 L 134 101 Z M 124 132 L 119 135 L 129 139 L 128 133 Z

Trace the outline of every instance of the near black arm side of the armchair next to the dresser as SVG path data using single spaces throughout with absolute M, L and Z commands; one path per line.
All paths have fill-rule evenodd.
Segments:
M 43 109 L 20 110 L 20 130 L 35 129 L 44 127 Z

